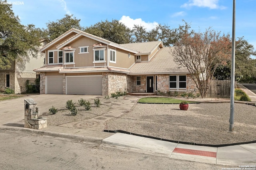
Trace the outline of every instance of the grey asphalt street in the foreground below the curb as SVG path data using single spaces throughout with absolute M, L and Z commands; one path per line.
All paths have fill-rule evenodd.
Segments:
M 222 168 L 230 167 L 175 160 L 114 146 L 16 131 L 0 131 L 1 170 L 221 170 Z

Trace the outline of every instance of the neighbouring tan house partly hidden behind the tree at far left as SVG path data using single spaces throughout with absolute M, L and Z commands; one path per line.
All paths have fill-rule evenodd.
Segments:
M 48 42 L 48 39 L 41 40 L 42 46 Z M 14 90 L 15 94 L 24 93 L 26 92 L 26 80 L 34 83 L 36 78 L 40 78 L 40 75 L 33 70 L 44 66 L 45 54 L 38 53 L 37 58 L 32 55 L 22 56 L 22 60 L 22 62 L 13 61 L 9 69 L 0 69 L 0 91 L 3 92 L 9 87 Z

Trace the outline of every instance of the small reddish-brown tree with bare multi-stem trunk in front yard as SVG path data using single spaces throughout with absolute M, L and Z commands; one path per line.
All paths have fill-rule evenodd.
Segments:
M 230 35 L 212 29 L 184 34 L 174 46 L 175 61 L 188 69 L 202 98 L 206 98 L 213 74 L 231 58 Z

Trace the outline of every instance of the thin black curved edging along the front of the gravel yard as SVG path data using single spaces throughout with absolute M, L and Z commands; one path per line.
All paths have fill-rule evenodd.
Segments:
M 147 136 L 147 135 L 140 135 L 140 134 L 137 134 L 137 133 L 131 133 L 131 132 L 122 131 L 122 130 L 115 130 L 115 131 L 103 130 L 103 131 L 104 132 L 108 132 L 108 133 L 125 133 L 125 134 L 128 134 L 128 135 L 146 137 L 146 138 L 150 138 L 150 139 L 157 139 L 157 140 L 160 140 L 160 141 L 167 141 L 167 142 L 173 142 L 173 143 L 181 143 L 181 144 L 186 144 L 186 145 L 197 145 L 197 146 L 204 146 L 204 147 L 227 147 L 227 146 L 234 146 L 234 145 L 256 143 L 256 141 L 249 141 L 249 142 L 241 142 L 241 143 L 210 145 L 210 144 L 200 144 L 200 143 L 192 143 L 192 142 L 173 141 L 173 140 L 169 140 L 169 139 L 162 139 L 162 138 L 158 138 L 158 137 L 152 137 L 152 136 Z

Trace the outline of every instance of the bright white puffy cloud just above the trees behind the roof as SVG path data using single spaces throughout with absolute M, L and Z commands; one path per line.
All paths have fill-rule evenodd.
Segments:
M 141 18 L 132 19 L 129 16 L 122 16 L 122 18 L 119 21 L 122 22 L 124 25 L 126 25 L 126 27 L 129 27 L 130 29 L 133 28 L 134 24 L 142 25 L 146 28 L 146 31 L 150 31 L 158 25 L 158 23 L 155 21 L 145 22 L 145 21 L 142 21 Z

